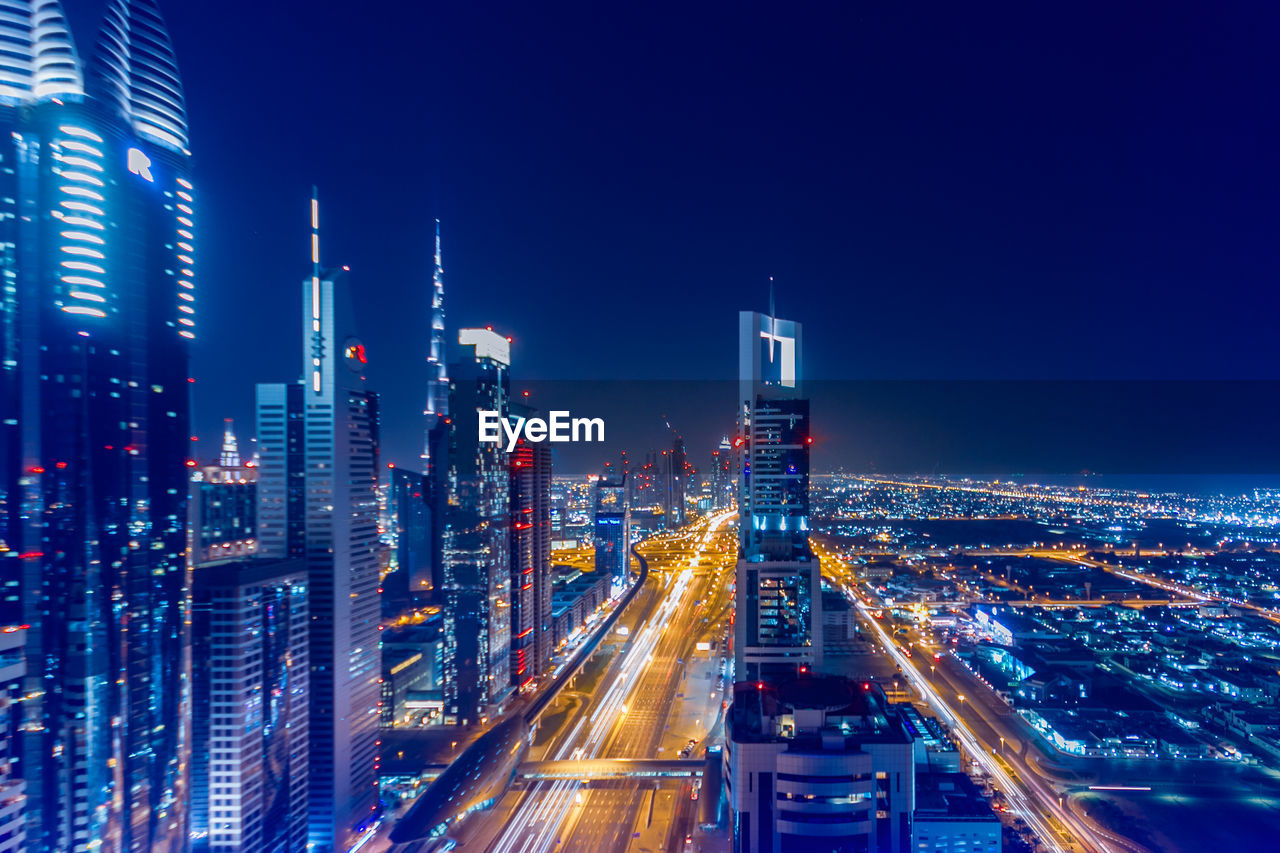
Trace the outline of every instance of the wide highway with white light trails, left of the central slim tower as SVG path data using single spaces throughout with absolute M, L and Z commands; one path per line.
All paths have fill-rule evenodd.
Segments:
M 658 589 L 657 601 L 646 619 L 627 626 L 630 639 L 599 684 L 576 697 L 576 710 L 558 722 L 543 749 L 544 760 L 677 757 L 682 744 L 671 743 L 667 724 L 680 692 L 682 662 L 696 642 L 713 635 L 718 639 L 724 630 L 736 555 L 732 532 L 726 532 L 732 517 L 732 512 L 721 514 L 640 547 Z M 463 841 L 460 848 L 622 853 L 631 847 L 637 824 L 643 825 L 649 790 L 652 783 L 640 789 L 631 780 L 590 786 L 580 780 L 535 783 L 511 795 L 516 802 L 504 815 L 495 815 L 503 820 L 495 838 L 483 847 Z M 685 790 L 687 783 L 682 784 Z M 689 802 L 687 794 L 684 800 Z M 680 809 L 669 829 L 673 839 L 678 840 L 681 824 L 687 825 L 691 815 L 691 807 Z

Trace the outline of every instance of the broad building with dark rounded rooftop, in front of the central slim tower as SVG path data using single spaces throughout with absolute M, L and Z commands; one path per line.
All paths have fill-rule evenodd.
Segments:
M 874 684 L 740 683 L 723 760 L 735 853 L 910 849 L 915 749 Z

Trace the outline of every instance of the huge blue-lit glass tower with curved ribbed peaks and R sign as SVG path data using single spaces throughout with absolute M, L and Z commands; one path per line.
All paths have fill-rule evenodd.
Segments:
M 155 0 L 108 0 L 90 61 L 58 0 L 5 3 L 0 40 L 0 578 L 31 625 L 27 848 L 178 850 L 196 334 L 182 83 Z

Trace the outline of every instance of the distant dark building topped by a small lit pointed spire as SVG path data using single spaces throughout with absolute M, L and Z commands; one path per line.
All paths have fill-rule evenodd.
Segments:
M 257 551 L 257 467 L 241 460 L 229 418 L 218 464 L 191 469 L 189 510 L 193 565 Z

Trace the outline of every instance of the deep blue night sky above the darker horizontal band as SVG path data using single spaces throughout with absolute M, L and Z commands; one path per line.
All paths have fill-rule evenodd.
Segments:
M 731 378 L 773 275 L 810 375 L 1274 379 L 1280 6 L 1121 5 L 161 0 L 196 425 L 297 374 L 312 183 L 397 461 L 435 216 L 517 377 Z

